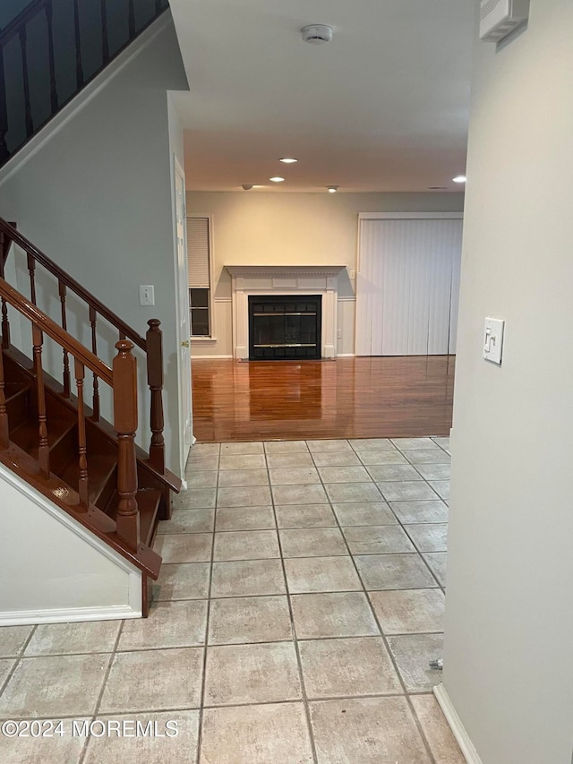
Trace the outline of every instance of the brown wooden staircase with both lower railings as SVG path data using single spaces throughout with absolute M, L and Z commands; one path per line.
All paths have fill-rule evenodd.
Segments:
M 13 244 L 26 258 L 30 296 L 4 279 Z M 37 305 L 38 267 L 43 271 L 42 283 L 49 275 L 59 297 L 59 322 Z M 91 348 L 67 330 L 68 292 L 85 305 Z M 0 462 L 139 568 L 145 616 L 148 579 L 158 578 L 161 565 L 161 558 L 152 550 L 158 521 L 170 517 L 171 496 L 181 486 L 165 467 L 160 324 L 150 320 L 146 337 L 141 337 L 3 219 L 0 306 Z M 14 312 L 21 324 L 30 327 L 30 355 L 11 342 L 9 318 Z M 101 322 L 106 330 L 117 332 L 117 353 L 111 365 L 98 357 Z M 45 337 L 60 348 L 60 379 L 44 368 Z M 149 453 L 135 444 L 138 403 L 134 346 L 141 348 L 146 358 Z M 90 406 L 86 401 L 89 382 Z M 113 425 L 100 415 L 100 384 L 108 385 L 112 392 Z

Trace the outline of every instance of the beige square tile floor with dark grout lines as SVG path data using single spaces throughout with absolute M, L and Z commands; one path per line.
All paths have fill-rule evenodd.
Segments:
M 463 762 L 429 667 L 441 657 L 448 448 L 195 446 L 159 528 L 149 619 L 0 629 L 0 720 L 30 731 L 0 734 L 0 760 Z M 59 718 L 63 734 L 44 721 Z

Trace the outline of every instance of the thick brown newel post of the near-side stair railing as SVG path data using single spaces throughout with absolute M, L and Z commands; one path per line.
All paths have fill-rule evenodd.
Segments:
M 133 342 L 122 339 L 115 343 L 114 358 L 114 425 L 119 442 L 117 460 L 117 494 L 119 504 L 115 518 L 117 536 L 133 550 L 140 541 L 140 513 L 137 507 L 137 369 L 132 354 Z

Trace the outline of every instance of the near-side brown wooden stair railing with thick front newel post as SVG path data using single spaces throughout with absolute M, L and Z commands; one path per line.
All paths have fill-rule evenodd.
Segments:
M 83 401 L 83 380 L 85 369 L 106 382 L 113 391 L 115 430 L 119 442 L 117 465 L 117 493 L 119 504 L 115 518 L 115 533 L 133 552 L 140 545 L 139 512 L 135 494 L 137 493 L 137 470 L 135 455 L 135 431 L 137 430 L 137 378 L 136 359 L 132 354 L 133 342 L 122 339 L 115 345 L 117 355 L 110 368 L 95 356 L 81 342 L 52 321 L 46 313 L 33 305 L 30 300 L 17 292 L 4 279 L 0 279 L 0 297 L 8 305 L 27 318 L 32 325 L 34 375 L 38 395 L 38 468 L 40 475 L 49 478 L 49 448 L 46 390 L 43 381 L 42 345 L 43 337 L 53 339 L 69 356 L 73 357 L 74 377 L 78 399 L 78 442 L 79 442 L 79 485 L 77 491 L 83 507 L 89 506 L 88 483 L 89 461 L 85 429 L 85 408 Z M 0 358 L 2 352 L 0 352 Z M 4 395 L 4 363 L 0 360 L 0 448 L 9 445 L 9 422 Z

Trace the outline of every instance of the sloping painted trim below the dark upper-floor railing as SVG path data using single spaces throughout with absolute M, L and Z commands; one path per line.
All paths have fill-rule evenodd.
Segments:
M 144 48 L 148 47 L 154 39 L 167 29 L 172 23 L 170 13 L 162 14 L 157 21 L 153 21 L 150 26 L 141 32 L 141 35 L 133 40 L 113 61 L 102 69 L 102 71 L 89 82 L 73 99 L 67 103 L 56 116 L 47 122 L 38 133 L 30 138 L 20 150 L 18 150 L 11 159 L 8 159 L 2 170 L 0 170 L 0 186 L 15 175 L 29 159 L 32 159 L 38 151 L 42 150 L 47 142 L 62 130 L 76 114 L 88 106 L 91 100 L 95 99 L 98 93 L 103 90 L 107 82 L 119 74 L 125 66 L 133 61 L 135 56 L 139 56 Z

